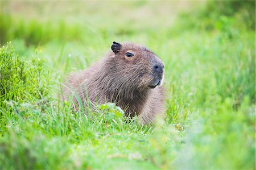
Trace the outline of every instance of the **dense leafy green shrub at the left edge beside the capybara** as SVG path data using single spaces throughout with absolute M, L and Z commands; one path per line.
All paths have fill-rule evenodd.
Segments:
M 39 103 L 47 103 L 50 92 L 42 59 L 34 58 L 30 63 L 23 61 L 11 43 L 0 48 L 0 56 L 0 120 L 3 135 L 10 119 L 29 115 L 28 107 L 40 107 Z

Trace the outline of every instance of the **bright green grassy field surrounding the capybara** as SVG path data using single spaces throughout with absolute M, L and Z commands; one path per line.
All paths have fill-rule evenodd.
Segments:
M 1 1 L 0 169 L 255 169 L 255 1 Z M 60 102 L 113 41 L 166 65 L 166 114 Z

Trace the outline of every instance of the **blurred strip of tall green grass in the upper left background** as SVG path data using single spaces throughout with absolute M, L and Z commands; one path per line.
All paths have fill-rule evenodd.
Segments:
M 80 39 L 80 26 L 75 24 L 67 26 L 63 21 L 56 24 L 51 22 L 41 23 L 38 20 L 28 22 L 14 19 L 10 14 L 0 14 L 0 43 L 14 39 L 23 39 L 26 46 L 43 45 L 52 39 L 75 40 Z M 10 29 L 11 27 L 11 29 Z M 65 34 L 69 32 L 69 34 Z

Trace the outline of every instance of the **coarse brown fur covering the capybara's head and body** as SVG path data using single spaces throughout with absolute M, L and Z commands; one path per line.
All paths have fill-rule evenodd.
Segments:
M 126 115 L 137 114 L 143 123 L 154 121 L 156 114 L 164 112 L 164 88 L 159 86 L 164 74 L 162 60 L 133 43 L 115 43 L 112 50 L 90 68 L 71 74 L 67 81 L 71 90 L 66 88 L 65 94 L 76 92 L 84 106 L 88 101 L 115 102 Z M 127 57 L 126 52 L 134 56 Z M 154 65 L 162 67 L 162 71 L 154 71 Z M 73 101 L 79 106 L 76 97 Z

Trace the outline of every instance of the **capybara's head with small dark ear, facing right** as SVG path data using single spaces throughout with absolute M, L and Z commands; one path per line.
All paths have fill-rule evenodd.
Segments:
M 108 65 L 124 88 L 153 89 L 163 83 L 164 64 L 152 51 L 133 43 L 112 44 Z M 117 79 L 115 79 L 115 82 Z M 130 86 L 130 87 L 129 87 Z

